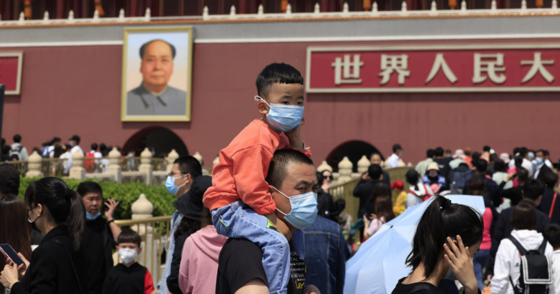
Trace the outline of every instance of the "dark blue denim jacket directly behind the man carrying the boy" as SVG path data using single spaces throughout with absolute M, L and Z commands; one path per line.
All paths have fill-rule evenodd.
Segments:
M 306 285 L 315 285 L 321 294 L 342 293 L 348 247 L 338 223 L 317 216 L 304 229 Z

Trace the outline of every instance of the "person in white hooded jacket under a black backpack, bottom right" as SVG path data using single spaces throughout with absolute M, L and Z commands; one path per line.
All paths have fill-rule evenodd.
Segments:
M 552 258 L 552 245 L 550 245 L 537 232 L 537 214 L 535 208 L 529 204 L 518 204 L 511 212 L 511 236 L 517 240 L 527 251 L 537 250 L 543 243 L 546 243 L 544 254 Z M 509 240 L 504 238 L 500 242 L 496 261 L 494 263 L 494 276 L 491 278 L 490 292 L 492 294 L 513 294 L 513 285 L 517 284 L 520 278 L 520 252 L 517 247 Z M 554 273 L 553 273 L 554 275 Z M 549 293 L 557 293 L 550 286 Z

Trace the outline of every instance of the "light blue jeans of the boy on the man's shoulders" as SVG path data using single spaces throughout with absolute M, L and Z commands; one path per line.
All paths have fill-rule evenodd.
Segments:
M 263 250 L 263 267 L 270 293 L 287 293 L 290 280 L 290 246 L 284 235 L 268 228 L 268 219 L 254 212 L 243 201 L 212 210 L 212 223 L 218 234 L 246 238 Z

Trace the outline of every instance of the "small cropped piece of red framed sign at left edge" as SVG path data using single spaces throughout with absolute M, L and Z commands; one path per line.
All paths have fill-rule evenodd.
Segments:
M 5 84 L 5 95 L 19 95 L 23 53 L 0 52 L 0 84 Z

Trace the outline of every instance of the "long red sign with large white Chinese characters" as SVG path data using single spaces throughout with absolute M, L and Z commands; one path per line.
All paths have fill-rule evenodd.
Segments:
M 560 45 L 308 47 L 306 90 L 560 91 Z

